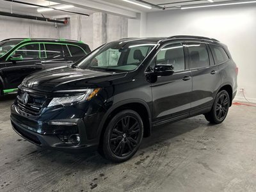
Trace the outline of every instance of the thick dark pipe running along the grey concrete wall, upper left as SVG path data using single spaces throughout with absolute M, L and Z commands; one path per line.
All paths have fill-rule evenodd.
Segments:
M 67 21 L 54 20 L 54 19 L 49 19 L 49 18 L 45 18 L 45 17 L 37 17 L 37 16 L 33 16 L 33 15 L 22 15 L 22 14 L 9 13 L 9 12 L 0 12 L 0 15 L 7 16 L 7 17 L 17 17 L 17 18 L 22 18 L 22 19 L 31 19 L 31 20 L 40 20 L 40 21 L 46 21 L 46 22 L 67 24 Z

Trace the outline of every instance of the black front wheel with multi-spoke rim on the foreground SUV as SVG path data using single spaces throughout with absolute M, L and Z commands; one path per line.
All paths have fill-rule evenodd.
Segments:
M 120 163 L 137 152 L 142 138 L 143 121 L 140 115 L 127 109 L 110 120 L 104 132 L 101 151 L 106 159 Z

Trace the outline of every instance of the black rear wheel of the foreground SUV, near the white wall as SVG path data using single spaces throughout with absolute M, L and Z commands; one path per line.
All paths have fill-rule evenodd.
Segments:
M 205 113 L 205 119 L 211 124 L 221 124 L 228 114 L 230 98 L 226 90 L 217 93 L 212 109 L 209 113 Z

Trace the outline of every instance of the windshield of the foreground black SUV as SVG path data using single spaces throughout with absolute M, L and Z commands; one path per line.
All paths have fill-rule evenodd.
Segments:
M 156 44 L 112 42 L 86 57 L 77 67 L 91 70 L 124 72 L 136 69 Z

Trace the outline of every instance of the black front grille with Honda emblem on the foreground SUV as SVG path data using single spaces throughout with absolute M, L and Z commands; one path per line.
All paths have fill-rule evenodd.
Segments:
M 26 114 L 37 116 L 40 114 L 41 109 L 45 107 L 45 104 L 47 102 L 47 97 L 42 95 L 35 95 L 35 94 L 28 94 L 28 100 L 25 104 L 22 101 L 22 95 L 25 92 L 22 90 L 18 91 L 17 96 L 17 105 L 19 106 L 20 111 L 25 112 Z

